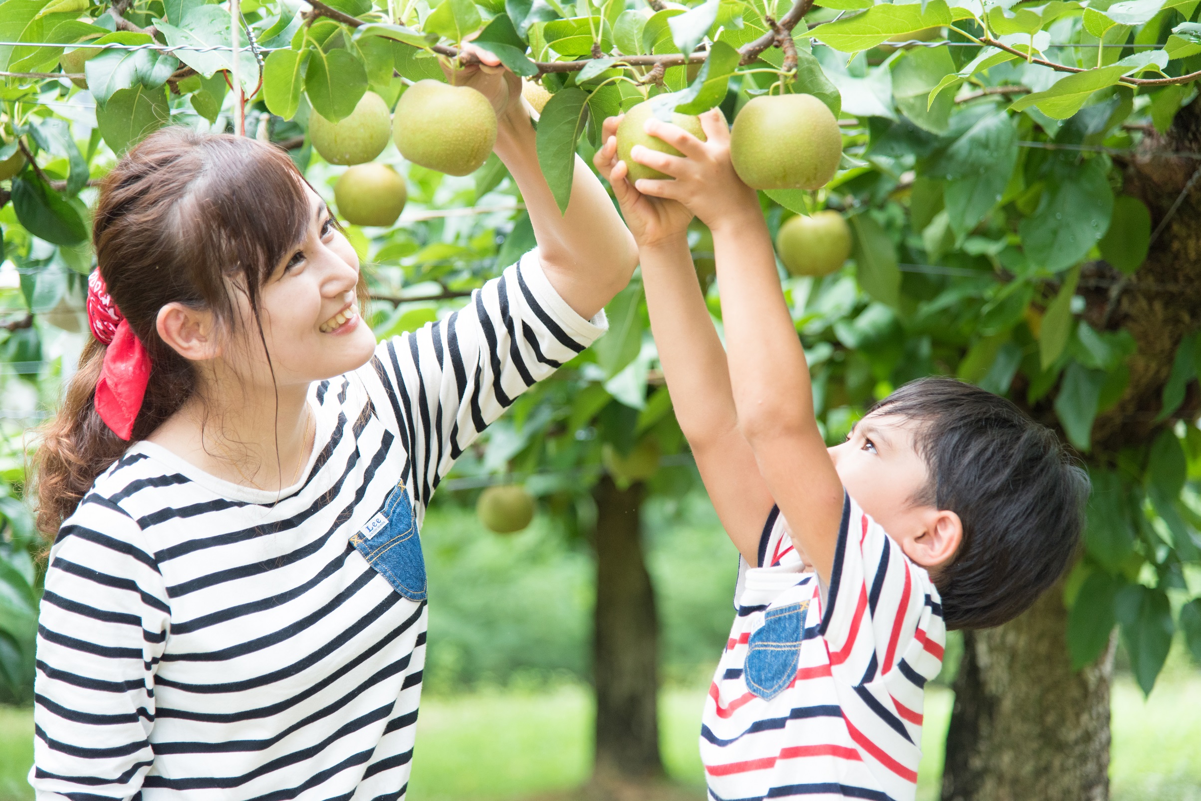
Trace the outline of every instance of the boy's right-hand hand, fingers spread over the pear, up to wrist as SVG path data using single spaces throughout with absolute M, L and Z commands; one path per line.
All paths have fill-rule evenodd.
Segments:
M 722 225 L 741 224 L 748 213 L 761 217 L 754 189 L 742 182 L 730 162 L 730 128 L 722 110 L 715 108 L 701 114 L 700 126 L 707 141 L 653 116 L 646 121 L 646 133 L 668 143 L 683 157 L 635 146 L 631 158 L 675 179 L 640 179 L 638 192 L 682 203 L 715 231 Z

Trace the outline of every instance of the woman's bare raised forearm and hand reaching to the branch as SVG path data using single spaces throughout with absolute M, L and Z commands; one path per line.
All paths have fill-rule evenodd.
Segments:
M 560 213 L 538 164 L 534 128 L 521 103 L 521 79 L 488 50 L 467 47 L 483 66 L 465 67 L 455 80 L 492 101 L 496 155 L 521 189 L 543 271 L 568 306 L 591 319 L 629 283 L 638 265 L 634 239 L 600 181 L 579 157 L 567 213 Z

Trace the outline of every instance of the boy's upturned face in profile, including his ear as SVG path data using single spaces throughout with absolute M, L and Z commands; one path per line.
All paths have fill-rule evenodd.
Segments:
M 954 512 L 914 502 L 928 486 L 930 468 L 918 453 L 912 420 L 868 415 L 846 442 L 827 450 L 847 493 L 909 559 L 927 568 L 950 561 L 962 524 Z

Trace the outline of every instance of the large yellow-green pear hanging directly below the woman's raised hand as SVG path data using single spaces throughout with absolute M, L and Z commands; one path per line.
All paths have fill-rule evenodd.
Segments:
M 447 175 L 479 169 L 496 144 L 496 112 L 471 86 L 418 80 L 396 102 L 392 135 L 400 155 Z

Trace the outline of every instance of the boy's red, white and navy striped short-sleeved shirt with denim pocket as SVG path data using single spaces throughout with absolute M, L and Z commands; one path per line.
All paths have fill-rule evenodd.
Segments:
M 700 733 L 710 797 L 912 800 L 946 636 L 926 571 L 847 498 L 823 608 L 772 510 L 736 604 Z

